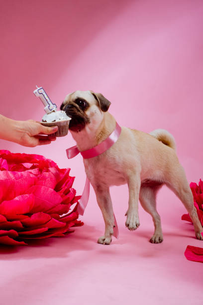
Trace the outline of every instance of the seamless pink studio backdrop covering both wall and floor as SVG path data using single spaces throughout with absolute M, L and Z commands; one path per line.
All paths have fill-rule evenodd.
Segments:
M 1 114 L 40 120 L 34 97 L 43 86 L 60 106 L 75 90 L 101 92 L 121 126 L 170 131 L 189 181 L 203 178 L 202 0 L 4 0 L 0 3 Z M 69 134 L 46 147 L 0 141 L 0 149 L 39 153 L 71 167 L 82 193 L 81 156 L 67 160 Z M 111 189 L 120 238 L 96 243 L 103 220 L 91 190 L 83 221 L 72 236 L 30 247 L 0 247 L 2 304 L 202 304 L 202 265 L 184 257 L 194 239 L 186 212 L 163 188 L 158 196 L 164 242 L 148 242 L 151 217 L 140 208 L 140 228 L 124 227 L 126 186 Z

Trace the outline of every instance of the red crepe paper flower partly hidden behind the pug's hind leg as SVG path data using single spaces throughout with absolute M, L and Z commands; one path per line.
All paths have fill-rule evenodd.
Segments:
M 193 192 L 194 205 L 203 226 L 203 181 L 200 179 L 199 185 L 195 182 L 191 182 L 190 187 Z M 189 214 L 184 214 L 181 219 L 193 222 Z

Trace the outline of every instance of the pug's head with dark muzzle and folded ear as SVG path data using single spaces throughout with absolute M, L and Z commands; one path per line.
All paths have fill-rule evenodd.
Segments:
M 79 132 L 87 124 L 101 122 L 110 102 L 101 93 L 93 91 L 75 91 L 66 96 L 60 109 L 71 118 L 69 129 Z

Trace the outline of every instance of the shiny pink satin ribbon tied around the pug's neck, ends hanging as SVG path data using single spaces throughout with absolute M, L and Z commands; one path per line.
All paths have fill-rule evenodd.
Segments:
M 118 140 L 120 133 L 121 133 L 121 127 L 116 122 L 114 131 L 102 143 L 98 144 L 97 146 L 93 147 L 90 150 L 83 152 L 80 152 L 77 146 L 73 146 L 66 150 L 67 157 L 71 159 L 74 156 L 76 156 L 79 152 L 82 154 L 84 159 L 89 159 L 98 156 L 103 152 L 106 152 Z M 85 208 L 88 204 L 89 196 L 90 196 L 90 181 L 88 177 L 86 177 L 85 188 L 83 190 L 83 194 L 81 196 L 81 199 L 79 200 L 79 205 L 78 205 L 78 212 L 80 215 L 84 214 Z M 113 216 L 114 216 L 113 236 L 118 238 L 118 226 L 116 223 L 115 215 L 113 214 Z

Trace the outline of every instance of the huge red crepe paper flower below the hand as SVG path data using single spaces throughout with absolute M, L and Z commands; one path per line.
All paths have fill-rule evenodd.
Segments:
M 42 155 L 0 150 L 0 244 L 26 245 L 83 225 L 69 172 Z

